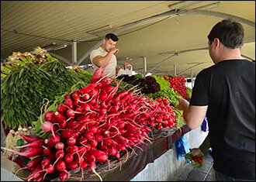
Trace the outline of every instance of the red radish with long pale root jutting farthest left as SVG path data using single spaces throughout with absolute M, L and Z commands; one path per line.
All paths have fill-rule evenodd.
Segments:
M 26 157 L 39 156 L 43 154 L 43 147 L 41 146 L 27 147 L 26 149 L 22 149 L 20 153 L 13 149 L 7 149 L 5 147 L 1 147 L 1 149 L 6 149 L 12 153 L 18 154 L 19 156 L 26 156 Z

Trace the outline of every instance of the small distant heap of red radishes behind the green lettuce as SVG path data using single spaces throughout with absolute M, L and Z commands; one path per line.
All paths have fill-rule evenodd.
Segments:
M 182 98 L 188 98 L 187 88 L 185 87 L 185 77 L 176 76 L 176 77 L 167 77 L 164 75 L 164 79 L 169 81 L 170 88 L 173 88 L 174 91 L 177 91 L 178 94 L 182 95 Z

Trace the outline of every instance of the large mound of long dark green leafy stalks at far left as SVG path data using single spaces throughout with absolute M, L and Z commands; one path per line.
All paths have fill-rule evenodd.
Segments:
M 49 101 L 81 81 L 52 59 L 44 64 L 27 62 L 1 79 L 2 118 L 9 129 L 31 125 L 40 116 L 43 98 Z

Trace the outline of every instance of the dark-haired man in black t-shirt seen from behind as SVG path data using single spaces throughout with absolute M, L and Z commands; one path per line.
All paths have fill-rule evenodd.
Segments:
M 195 79 L 190 103 L 178 98 L 186 125 L 207 117 L 216 180 L 255 180 L 255 63 L 241 57 L 244 29 L 218 22 L 208 35 L 214 65 Z

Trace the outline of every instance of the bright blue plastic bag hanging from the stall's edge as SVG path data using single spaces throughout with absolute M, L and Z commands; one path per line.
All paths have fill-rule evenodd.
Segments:
M 189 150 L 189 143 L 185 136 L 181 136 L 176 142 L 175 142 L 175 148 L 177 151 L 177 159 L 180 160 L 183 156 L 183 154 L 190 153 Z M 185 157 L 186 160 L 186 157 Z

